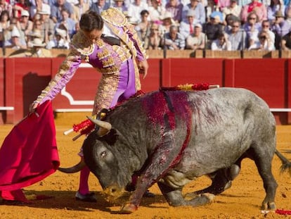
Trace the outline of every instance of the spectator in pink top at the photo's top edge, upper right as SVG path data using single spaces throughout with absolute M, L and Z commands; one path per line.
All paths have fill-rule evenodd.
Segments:
M 241 20 L 243 22 L 247 22 L 248 15 L 254 12 L 257 14 L 257 22 L 261 23 L 262 20 L 267 19 L 267 13 L 266 13 L 266 6 L 259 2 L 259 0 L 252 0 L 250 4 L 247 4 L 243 6 L 242 14 L 241 14 Z

